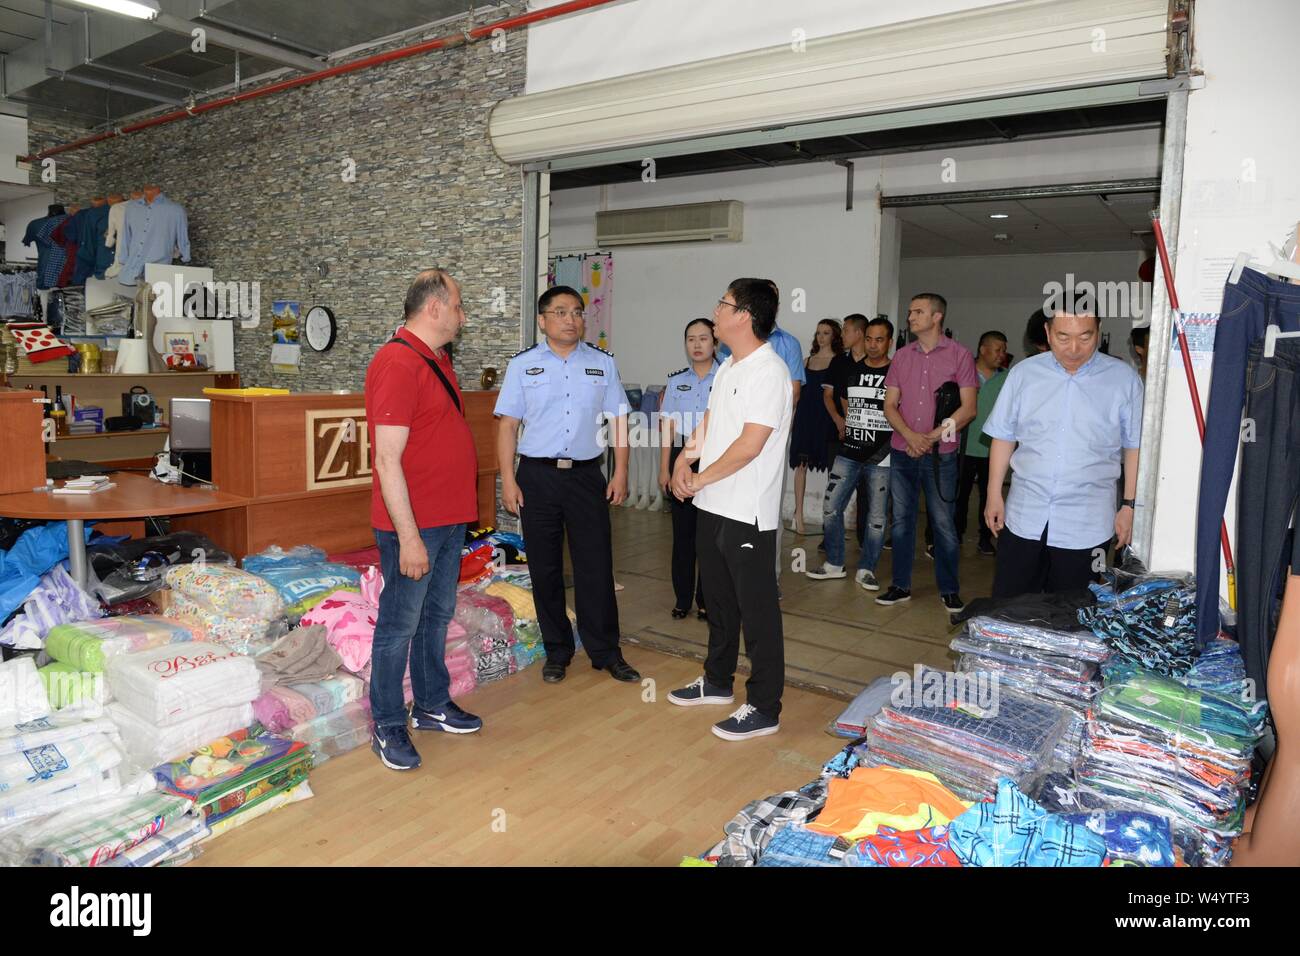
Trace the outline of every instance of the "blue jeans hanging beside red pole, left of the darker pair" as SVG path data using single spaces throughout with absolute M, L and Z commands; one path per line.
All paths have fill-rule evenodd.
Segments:
M 1253 342 L 1269 325 L 1300 332 L 1300 286 L 1242 269 L 1238 282 L 1223 287 L 1223 306 L 1214 333 L 1210 401 L 1205 412 L 1205 449 L 1196 511 L 1196 636 L 1204 648 L 1218 632 L 1219 522 L 1240 441 L 1245 402 L 1245 360 Z M 1260 432 L 1261 441 L 1264 433 Z M 1240 497 L 1240 496 L 1239 496 Z M 1236 555 L 1251 546 L 1238 531 Z M 1262 687 L 1262 683 L 1260 684 Z

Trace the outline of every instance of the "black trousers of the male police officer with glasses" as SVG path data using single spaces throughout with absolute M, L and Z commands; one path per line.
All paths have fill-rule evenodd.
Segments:
M 564 610 L 564 533 L 573 563 L 573 610 L 582 646 L 595 667 L 619 658 L 619 605 L 614 600 L 610 506 L 599 462 L 556 468 L 520 459 L 515 472 L 524 493 L 519 515 L 533 578 L 537 623 L 550 663 L 573 658 L 573 628 Z

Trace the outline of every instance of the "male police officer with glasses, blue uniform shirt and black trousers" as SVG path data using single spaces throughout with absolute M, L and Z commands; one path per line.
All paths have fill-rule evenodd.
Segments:
M 582 297 L 568 286 L 547 289 L 537 302 L 543 338 L 515 355 L 497 398 L 500 419 L 497 460 L 502 503 L 519 515 L 533 579 L 537 623 L 546 645 L 542 678 L 564 679 L 573 659 L 573 628 L 564 607 L 564 533 L 573 563 L 577 630 L 592 666 L 616 680 L 641 675 L 619 649 L 614 598 L 610 510 L 628 497 L 628 408 L 614 356 L 582 341 Z M 602 424 L 610 416 L 614 477 L 604 460 Z M 519 425 L 524 434 L 519 437 Z M 510 463 L 519 451 L 519 468 Z

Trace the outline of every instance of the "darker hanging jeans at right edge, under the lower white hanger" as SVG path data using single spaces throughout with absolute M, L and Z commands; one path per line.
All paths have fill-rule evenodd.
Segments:
M 1300 293 L 1300 289 L 1297 289 Z M 1242 445 L 1236 509 L 1236 639 L 1256 697 L 1268 698 L 1265 676 L 1277 622 L 1284 559 L 1300 574 L 1300 550 L 1283 554 L 1300 493 L 1300 341 L 1282 339 L 1273 358 L 1264 342 L 1251 346 L 1245 373 L 1245 416 L 1253 441 Z M 1251 437 L 1249 434 L 1247 436 Z

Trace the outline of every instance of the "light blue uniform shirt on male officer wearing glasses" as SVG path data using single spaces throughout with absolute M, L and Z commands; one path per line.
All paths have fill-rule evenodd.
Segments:
M 603 415 L 627 415 L 628 395 L 610 352 L 578 342 L 567 359 L 543 338 L 506 365 L 497 415 L 524 423 L 519 454 L 585 462 L 604 454 Z

